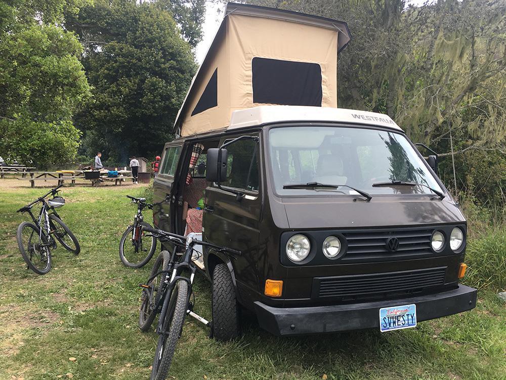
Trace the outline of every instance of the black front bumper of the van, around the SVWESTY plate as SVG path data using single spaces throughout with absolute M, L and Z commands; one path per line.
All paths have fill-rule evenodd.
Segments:
M 299 335 L 379 328 L 379 309 L 416 305 L 418 322 L 474 309 L 477 290 L 458 285 L 454 290 L 417 297 L 305 308 L 273 308 L 255 302 L 260 327 L 274 335 Z

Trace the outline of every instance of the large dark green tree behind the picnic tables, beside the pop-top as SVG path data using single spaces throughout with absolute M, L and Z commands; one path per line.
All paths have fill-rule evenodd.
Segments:
M 118 163 L 160 153 L 196 69 L 171 13 L 156 3 L 98 0 L 66 25 L 86 48 L 93 86 L 75 119 L 86 153 Z

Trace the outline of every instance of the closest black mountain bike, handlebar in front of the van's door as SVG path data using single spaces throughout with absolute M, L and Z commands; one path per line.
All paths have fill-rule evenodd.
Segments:
M 197 256 L 201 254 L 195 250 L 195 246 L 209 247 L 213 250 L 226 251 L 234 255 L 240 255 L 241 252 L 194 238 L 186 238 L 181 235 L 152 229 L 151 227 L 143 227 L 143 229 L 161 242 L 174 244 L 172 254 L 168 251 L 160 253 L 153 265 L 147 284 L 140 285 L 143 292 L 139 328 L 142 331 L 149 330 L 156 314 L 160 314 L 156 326 L 156 333 L 159 338 L 153 359 L 151 380 L 163 380 L 166 378 L 168 369 L 171 366 L 186 315 L 190 315 L 206 326 L 210 326 L 210 322 L 193 313 L 194 302 L 190 302 L 193 278 L 196 271 L 193 260 L 198 258 L 195 257 L 194 251 Z M 185 252 L 177 260 L 178 246 L 185 247 Z

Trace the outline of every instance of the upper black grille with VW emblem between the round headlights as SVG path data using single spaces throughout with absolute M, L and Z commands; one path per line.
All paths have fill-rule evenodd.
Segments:
M 342 260 L 397 258 L 433 254 L 431 237 L 434 229 L 362 230 L 343 233 L 348 249 Z M 398 240 L 395 250 L 387 242 Z

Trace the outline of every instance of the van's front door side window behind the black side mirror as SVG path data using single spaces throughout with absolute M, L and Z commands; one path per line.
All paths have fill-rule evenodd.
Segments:
M 227 146 L 228 172 L 223 186 L 258 192 L 258 145 L 254 140 L 240 140 Z

